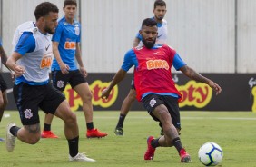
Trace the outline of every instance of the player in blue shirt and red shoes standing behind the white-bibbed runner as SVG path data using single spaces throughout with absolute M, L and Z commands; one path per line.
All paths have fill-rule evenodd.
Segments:
M 52 64 L 52 79 L 54 87 L 60 91 L 64 91 L 67 83 L 76 93 L 78 93 L 83 101 L 83 111 L 85 123 L 87 127 L 86 137 L 105 137 L 107 133 L 102 133 L 94 128 L 93 122 L 93 94 L 89 85 L 85 80 L 87 72 L 81 58 L 80 38 L 81 25 L 74 16 L 77 10 L 75 0 L 64 1 L 64 17 L 58 22 L 58 26 L 53 35 L 53 52 L 54 62 Z M 76 62 L 79 64 L 79 69 Z M 46 114 L 44 119 L 44 131 L 41 134 L 43 138 L 58 138 L 51 131 L 51 123 L 53 114 Z

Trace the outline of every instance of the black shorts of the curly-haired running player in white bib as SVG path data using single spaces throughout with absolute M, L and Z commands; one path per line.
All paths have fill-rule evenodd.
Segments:
M 30 85 L 19 83 L 14 86 L 14 96 L 20 119 L 23 125 L 40 123 L 38 110 L 54 114 L 65 98 L 50 83 L 44 85 Z

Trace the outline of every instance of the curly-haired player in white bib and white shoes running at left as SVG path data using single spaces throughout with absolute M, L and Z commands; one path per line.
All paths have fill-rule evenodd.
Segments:
M 34 10 L 36 22 L 25 22 L 15 31 L 14 52 L 6 64 L 15 72 L 14 97 L 23 127 L 9 123 L 5 147 L 15 149 L 15 139 L 35 144 L 40 140 L 38 110 L 51 113 L 64 121 L 64 134 L 68 141 L 69 161 L 94 162 L 79 153 L 79 130 L 76 115 L 71 111 L 64 95 L 49 82 L 52 64 L 52 35 L 57 26 L 59 9 L 44 2 Z M 50 155 L 51 156 L 51 155 Z

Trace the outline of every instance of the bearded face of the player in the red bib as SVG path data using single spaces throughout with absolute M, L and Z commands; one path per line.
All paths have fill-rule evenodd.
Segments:
M 157 37 L 157 26 L 143 26 L 142 30 L 140 30 L 140 34 L 142 35 L 142 41 L 145 47 L 151 49 L 155 44 L 155 40 Z

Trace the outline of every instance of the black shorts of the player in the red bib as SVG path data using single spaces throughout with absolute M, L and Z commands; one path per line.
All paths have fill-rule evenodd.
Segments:
M 172 117 L 172 124 L 177 128 L 181 129 L 181 116 L 180 116 L 180 109 L 179 109 L 179 103 L 178 99 L 175 97 L 172 97 L 170 95 L 158 95 L 158 94 L 148 94 L 146 95 L 143 100 L 143 106 L 148 111 L 148 113 L 153 117 L 153 120 L 159 121 L 158 118 L 156 118 L 153 115 L 153 110 L 155 107 L 164 104 L 169 113 Z

